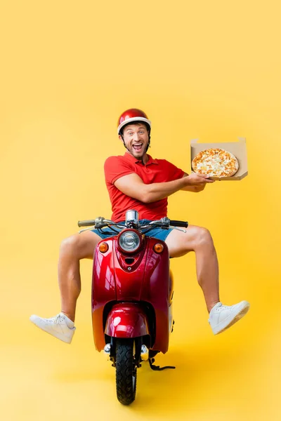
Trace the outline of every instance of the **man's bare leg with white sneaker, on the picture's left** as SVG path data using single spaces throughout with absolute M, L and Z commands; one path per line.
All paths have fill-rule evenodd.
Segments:
M 63 240 L 58 259 L 58 283 L 60 286 L 61 312 L 51 319 L 32 315 L 36 326 L 63 342 L 70 344 L 74 335 L 74 318 L 77 298 L 81 291 L 79 261 L 93 258 L 93 251 L 100 236 L 85 231 Z

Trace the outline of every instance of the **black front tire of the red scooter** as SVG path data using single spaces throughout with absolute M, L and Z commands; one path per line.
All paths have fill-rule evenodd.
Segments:
M 133 339 L 116 341 L 116 392 L 123 405 L 136 398 L 136 364 L 133 359 Z

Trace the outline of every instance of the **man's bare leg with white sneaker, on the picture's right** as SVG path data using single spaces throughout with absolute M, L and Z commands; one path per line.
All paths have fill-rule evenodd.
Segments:
M 174 229 L 166 238 L 169 254 L 176 258 L 195 251 L 197 280 L 200 284 L 207 309 L 209 323 L 216 335 L 240 320 L 249 310 L 249 302 L 241 301 L 236 305 L 222 305 L 218 293 L 218 259 L 214 242 L 209 231 L 190 225 L 186 232 Z

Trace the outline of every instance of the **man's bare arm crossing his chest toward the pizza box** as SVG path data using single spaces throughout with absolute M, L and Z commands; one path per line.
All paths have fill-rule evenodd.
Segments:
M 143 203 L 151 203 L 171 196 L 171 194 L 185 189 L 185 187 L 202 187 L 207 182 L 213 182 L 212 180 L 208 180 L 207 175 L 191 174 L 178 180 L 155 182 L 146 185 L 136 173 L 133 173 L 118 178 L 114 184 L 117 189 L 127 196 L 138 199 Z

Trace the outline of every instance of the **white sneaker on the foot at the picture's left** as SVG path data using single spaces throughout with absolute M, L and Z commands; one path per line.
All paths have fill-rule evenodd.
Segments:
M 32 314 L 30 320 L 38 328 L 45 330 L 45 332 L 50 333 L 50 335 L 55 336 L 55 338 L 63 340 L 63 342 L 66 342 L 67 344 L 70 344 L 72 341 L 76 328 L 74 327 L 73 321 L 68 319 L 65 314 L 60 313 L 55 317 L 51 317 L 51 319 L 43 319 L 42 317 Z M 73 326 L 70 327 L 71 325 Z

